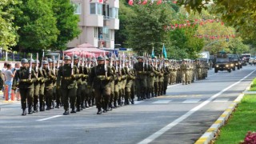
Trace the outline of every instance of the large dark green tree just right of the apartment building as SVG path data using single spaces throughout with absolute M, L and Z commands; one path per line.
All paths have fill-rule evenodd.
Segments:
M 157 5 L 156 2 L 152 5 L 134 5 L 135 14 L 126 25 L 127 44 L 138 54 L 150 53 L 153 46 L 155 53 L 161 54 L 162 44 L 165 43 L 166 48 L 170 45 L 164 29 L 174 14 L 170 8 L 170 5 Z

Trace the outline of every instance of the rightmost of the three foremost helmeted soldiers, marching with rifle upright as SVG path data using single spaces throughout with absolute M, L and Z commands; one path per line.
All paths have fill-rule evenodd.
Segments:
M 109 66 L 106 66 L 103 57 L 98 57 L 98 66 L 94 66 L 90 73 L 89 84 L 93 83 L 95 90 L 96 106 L 98 108 L 97 114 L 106 113 L 110 101 L 110 82 L 113 80 L 113 71 Z M 103 99 L 102 99 L 103 98 Z M 103 108 L 103 111 L 102 111 Z

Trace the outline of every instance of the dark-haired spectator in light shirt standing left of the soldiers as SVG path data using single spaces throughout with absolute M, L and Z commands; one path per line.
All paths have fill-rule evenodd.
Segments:
M 7 70 L 5 71 L 5 77 L 6 77 L 5 84 L 8 86 L 8 99 L 9 99 L 8 101 L 10 101 L 10 94 L 11 94 L 13 79 L 16 71 L 14 71 L 14 73 L 11 71 L 10 63 L 8 63 L 6 67 L 7 67 Z

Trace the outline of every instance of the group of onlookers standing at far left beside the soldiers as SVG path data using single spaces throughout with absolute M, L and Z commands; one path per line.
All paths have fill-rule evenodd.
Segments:
M 12 84 L 16 74 L 16 70 L 20 68 L 20 62 L 16 62 L 14 67 L 9 62 L 5 62 L 0 74 L 0 89 L 3 91 L 3 98 L 6 96 L 6 88 L 8 88 L 8 101 L 11 101 Z M 20 100 L 19 90 L 14 90 L 14 100 Z

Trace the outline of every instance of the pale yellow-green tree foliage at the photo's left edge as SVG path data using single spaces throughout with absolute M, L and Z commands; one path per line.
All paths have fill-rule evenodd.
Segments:
M 14 26 L 14 5 L 18 0 L 5 0 L 0 2 L 0 47 L 7 50 L 9 46 L 17 44 L 17 30 Z

